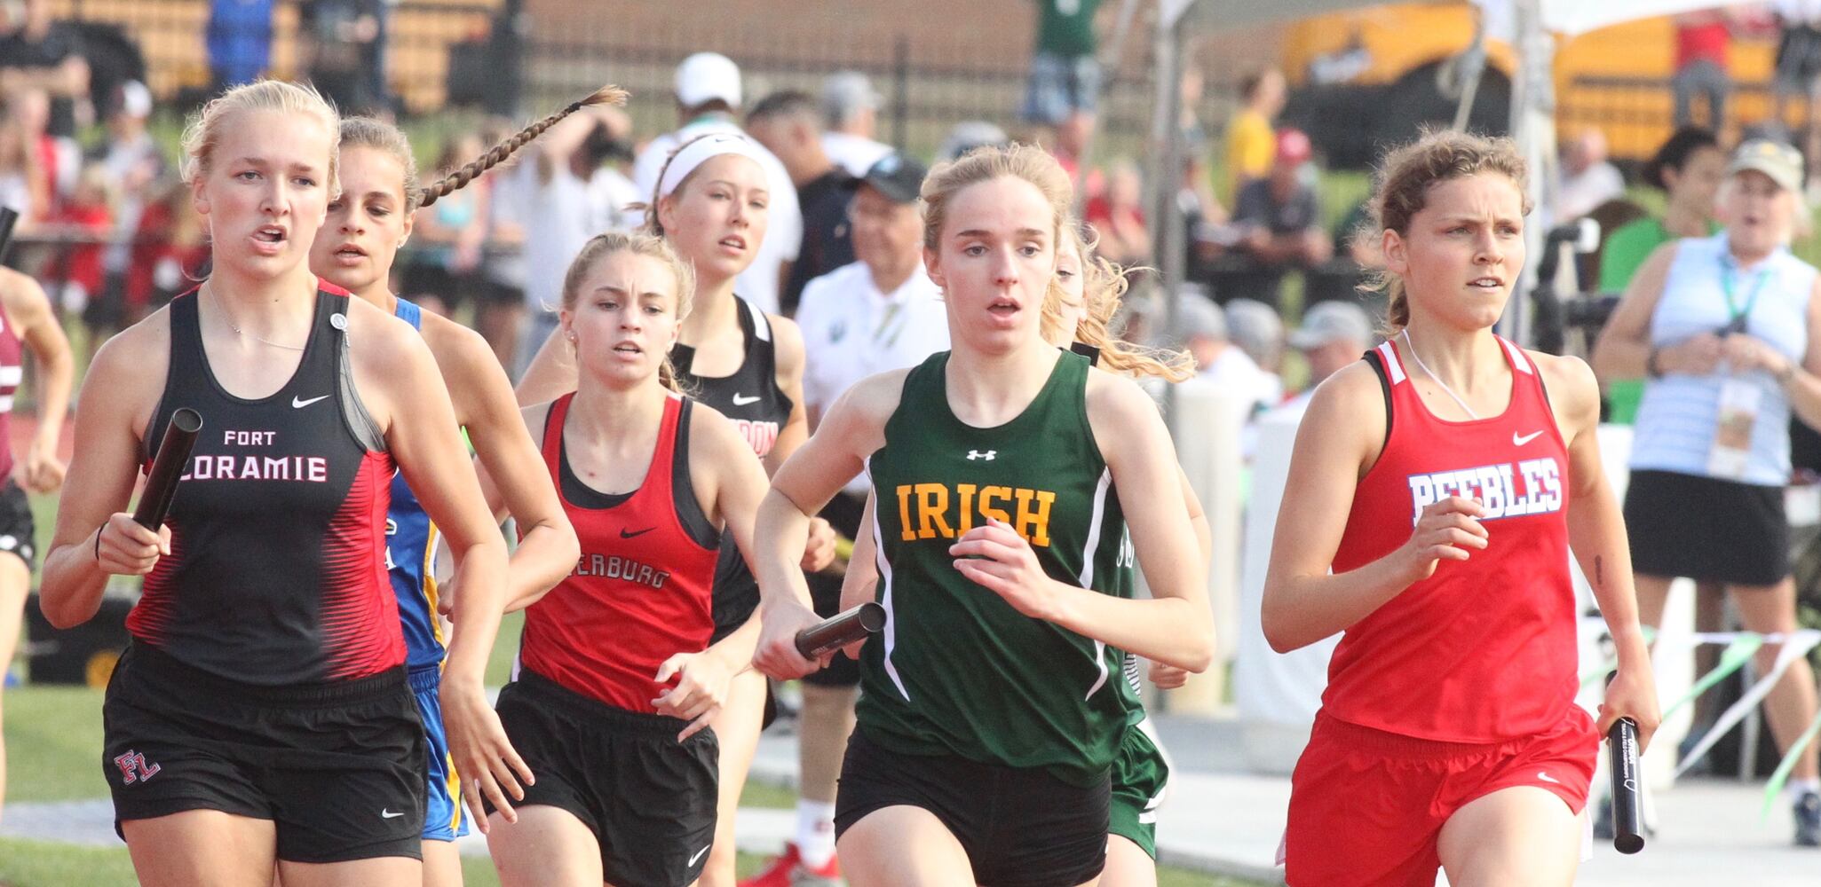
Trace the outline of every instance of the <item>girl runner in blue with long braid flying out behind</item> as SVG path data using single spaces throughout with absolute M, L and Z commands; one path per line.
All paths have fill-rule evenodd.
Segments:
M 590 100 L 610 98 L 606 91 Z M 512 553 L 506 609 L 519 609 L 541 594 L 575 565 L 575 531 L 557 502 L 548 473 L 539 465 L 517 404 L 512 382 L 499 367 L 493 349 L 479 333 L 392 294 L 392 264 L 412 236 L 413 213 L 473 182 L 514 149 L 535 138 L 575 107 L 532 124 L 517 136 L 488 151 L 479 160 L 452 171 L 430 187 L 417 185 L 412 145 L 392 124 L 371 118 L 346 118 L 341 124 L 341 185 L 330 202 L 328 224 L 310 249 L 310 267 L 322 280 L 355 298 L 415 327 L 437 360 L 443 384 L 455 405 L 455 422 L 468 431 L 475 454 L 493 483 L 504 491 L 506 511 L 519 527 L 519 545 Z M 435 580 L 437 527 L 412 493 L 404 476 L 392 478 L 392 505 L 386 511 L 386 565 L 392 591 L 399 598 L 412 693 L 430 740 L 428 807 L 424 816 L 424 885 L 459 885 L 461 858 L 455 838 L 468 832 L 468 822 L 455 802 L 457 774 L 443 733 L 437 705 L 443 662 L 448 654 L 444 613 L 453 607 L 455 589 Z

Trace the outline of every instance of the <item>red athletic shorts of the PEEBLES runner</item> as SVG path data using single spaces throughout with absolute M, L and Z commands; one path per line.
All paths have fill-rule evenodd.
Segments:
M 1491 745 L 1429 742 L 1315 716 L 1289 780 L 1284 878 L 1291 887 L 1433 887 L 1442 823 L 1515 785 L 1588 802 L 1599 734 L 1575 707 L 1548 733 Z

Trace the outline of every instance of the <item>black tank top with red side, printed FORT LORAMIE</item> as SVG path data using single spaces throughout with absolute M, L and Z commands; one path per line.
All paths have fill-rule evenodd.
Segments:
M 166 523 L 171 554 L 127 614 L 133 636 L 222 678 L 293 685 L 404 662 L 386 582 L 392 454 L 353 387 L 348 296 L 319 291 L 297 373 L 260 400 L 209 369 L 195 293 L 169 307 L 171 365 L 146 467 L 171 414 L 202 414 Z

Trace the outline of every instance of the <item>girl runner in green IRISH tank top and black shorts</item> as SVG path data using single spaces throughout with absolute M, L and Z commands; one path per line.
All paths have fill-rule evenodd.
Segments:
M 1031 147 L 929 176 L 925 265 L 954 349 L 850 389 L 761 507 L 754 662 L 794 678 L 816 669 L 792 645 L 816 616 L 788 569 L 809 514 L 860 471 L 883 503 L 872 531 L 890 620 L 861 656 L 836 802 L 856 887 L 1093 882 L 1129 718 L 1120 651 L 1189 671 L 1213 658 L 1206 569 L 1182 556 L 1195 534 L 1156 407 L 1038 334 L 1069 191 Z M 1133 554 L 1155 600 L 1116 596 L 1104 563 Z

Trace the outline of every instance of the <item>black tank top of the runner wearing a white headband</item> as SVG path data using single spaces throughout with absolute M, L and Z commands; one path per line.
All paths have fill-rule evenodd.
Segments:
M 696 362 L 696 349 L 690 345 L 672 347 L 670 365 L 692 398 L 730 418 L 747 444 L 752 444 L 752 453 L 765 458 L 778 444 L 778 433 L 790 422 L 794 402 L 778 387 L 778 344 L 772 340 L 770 318 L 745 298 L 734 296 L 734 302 L 747 342 L 739 369 L 730 376 L 697 376 L 690 373 Z M 759 580 L 747 569 L 734 542 L 725 540 L 714 571 L 714 640 L 732 634 L 758 607 Z

